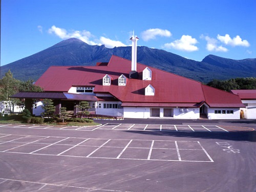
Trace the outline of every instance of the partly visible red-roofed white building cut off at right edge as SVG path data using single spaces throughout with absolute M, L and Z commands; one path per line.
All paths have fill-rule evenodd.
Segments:
M 256 90 L 231 90 L 245 105 L 241 110 L 241 118 L 256 119 Z

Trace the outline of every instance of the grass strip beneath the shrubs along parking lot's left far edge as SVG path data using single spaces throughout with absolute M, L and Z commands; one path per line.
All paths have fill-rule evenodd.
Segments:
M 31 124 L 31 123 L 25 123 L 20 115 L 8 115 L 6 117 L 0 118 L 1 124 Z M 33 123 L 34 124 L 34 123 Z M 56 122 L 44 122 L 44 125 L 58 125 Z M 100 123 L 95 122 L 67 122 L 65 126 L 94 126 L 99 125 Z

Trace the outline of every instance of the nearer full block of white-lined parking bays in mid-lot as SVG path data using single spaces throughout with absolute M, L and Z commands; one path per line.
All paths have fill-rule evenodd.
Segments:
M 83 158 L 214 162 L 199 141 L 1 134 L 0 152 Z

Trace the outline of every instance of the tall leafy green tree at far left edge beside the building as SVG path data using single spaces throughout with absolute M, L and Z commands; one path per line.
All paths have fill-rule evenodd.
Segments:
M 0 100 L 7 101 L 10 111 L 9 114 L 14 111 L 14 105 L 19 101 L 15 98 L 10 98 L 18 92 L 20 81 L 13 78 L 13 74 L 9 70 L 5 73 L 5 76 L 0 80 Z

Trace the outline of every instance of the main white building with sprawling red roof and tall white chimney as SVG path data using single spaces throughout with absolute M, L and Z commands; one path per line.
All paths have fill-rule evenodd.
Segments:
M 18 93 L 26 98 L 53 99 L 56 109 L 74 110 L 81 100 L 91 112 L 124 118 L 240 119 L 239 96 L 173 73 L 137 63 L 133 36 L 132 61 L 112 56 L 96 66 L 52 66 L 37 81 L 43 93 Z M 37 112 L 39 113 L 39 112 Z M 36 114 L 38 115 L 38 114 Z

